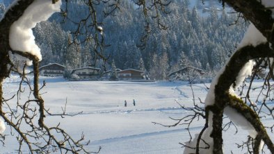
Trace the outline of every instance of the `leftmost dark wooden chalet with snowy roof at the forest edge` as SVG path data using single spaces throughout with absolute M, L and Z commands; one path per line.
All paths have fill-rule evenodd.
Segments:
M 39 68 L 40 76 L 63 76 L 64 70 L 65 66 L 57 63 L 50 63 Z

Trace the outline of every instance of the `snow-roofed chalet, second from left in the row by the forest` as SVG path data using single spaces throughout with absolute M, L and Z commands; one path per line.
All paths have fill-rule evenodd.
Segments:
M 101 69 L 95 67 L 82 67 L 73 69 L 71 74 L 73 79 L 97 80 L 100 77 L 100 70 Z

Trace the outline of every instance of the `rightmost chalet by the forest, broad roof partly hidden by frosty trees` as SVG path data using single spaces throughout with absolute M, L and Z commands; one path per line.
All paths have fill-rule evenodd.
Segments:
M 168 74 L 168 78 L 173 80 L 188 80 L 188 77 L 203 76 L 204 74 L 204 70 L 188 66 L 177 71 L 173 71 Z

